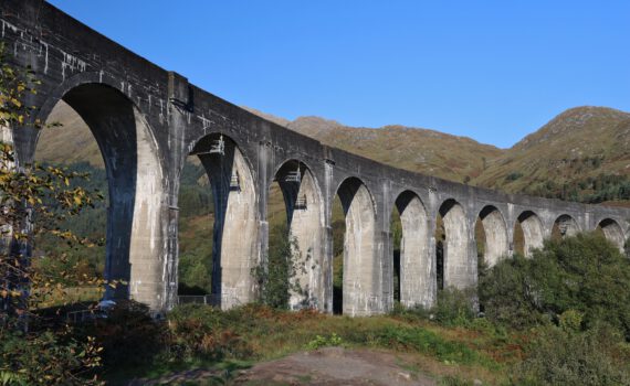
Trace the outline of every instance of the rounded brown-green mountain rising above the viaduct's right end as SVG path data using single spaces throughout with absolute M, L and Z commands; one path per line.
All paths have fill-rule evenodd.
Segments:
M 630 114 L 606 107 L 566 110 L 491 160 L 472 183 L 574 201 L 615 200 L 596 195 L 630 187 Z M 629 194 L 621 192 L 626 200 Z

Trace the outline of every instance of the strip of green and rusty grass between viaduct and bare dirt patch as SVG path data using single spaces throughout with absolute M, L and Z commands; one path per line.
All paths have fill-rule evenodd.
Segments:
M 507 378 L 510 364 L 519 355 L 510 336 L 492 329 L 449 329 L 427 320 L 396 315 L 348 318 L 314 311 L 276 311 L 253 304 L 224 312 L 188 304 L 176 309 L 174 314 L 169 325 L 176 326 L 176 335 L 181 333 L 177 332 L 178 328 L 191 323 L 190 331 L 197 334 L 190 339 L 192 344 L 200 340 L 217 342 L 218 336 L 230 334 L 238 340 L 235 345 L 245 349 L 210 361 L 202 355 L 155 361 L 146 368 L 133 368 L 136 376 L 156 378 L 172 372 L 218 368 L 233 363 L 227 360 L 245 361 L 240 365 L 246 367 L 254 362 L 272 361 L 335 342 L 350 350 L 397 353 L 406 364 L 403 368 L 412 374 L 430 374 L 437 378 L 479 378 L 484 384 L 501 384 Z M 210 335 L 214 339 L 206 337 Z M 317 340 L 323 340 L 324 344 L 313 344 Z M 230 342 L 235 346 L 234 341 Z M 504 355 L 496 355 L 497 352 Z M 129 375 L 129 369 L 118 369 L 109 377 L 123 379 Z

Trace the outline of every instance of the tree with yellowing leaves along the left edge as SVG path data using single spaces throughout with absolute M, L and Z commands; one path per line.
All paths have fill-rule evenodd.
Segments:
M 42 318 L 39 305 L 55 292 L 64 293 L 60 276 L 39 271 L 31 262 L 33 239 L 53 235 L 64 243 L 91 245 L 60 224 L 99 200 L 98 192 L 71 186 L 86 175 L 55 167 L 17 165 L 11 130 L 43 128 L 32 120 L 36 107 L 25 106 L 36 94 L 34 73 L 10 65 L 0 45 L 0 382 L 3 384 L 94 384 L 84 374 L 99 364 L 94 340 L 73 337 L 72 326 Z M 65 257 L 46 256 L 61 262 Z M 85 283 L 102 281 L 83 277 Z

